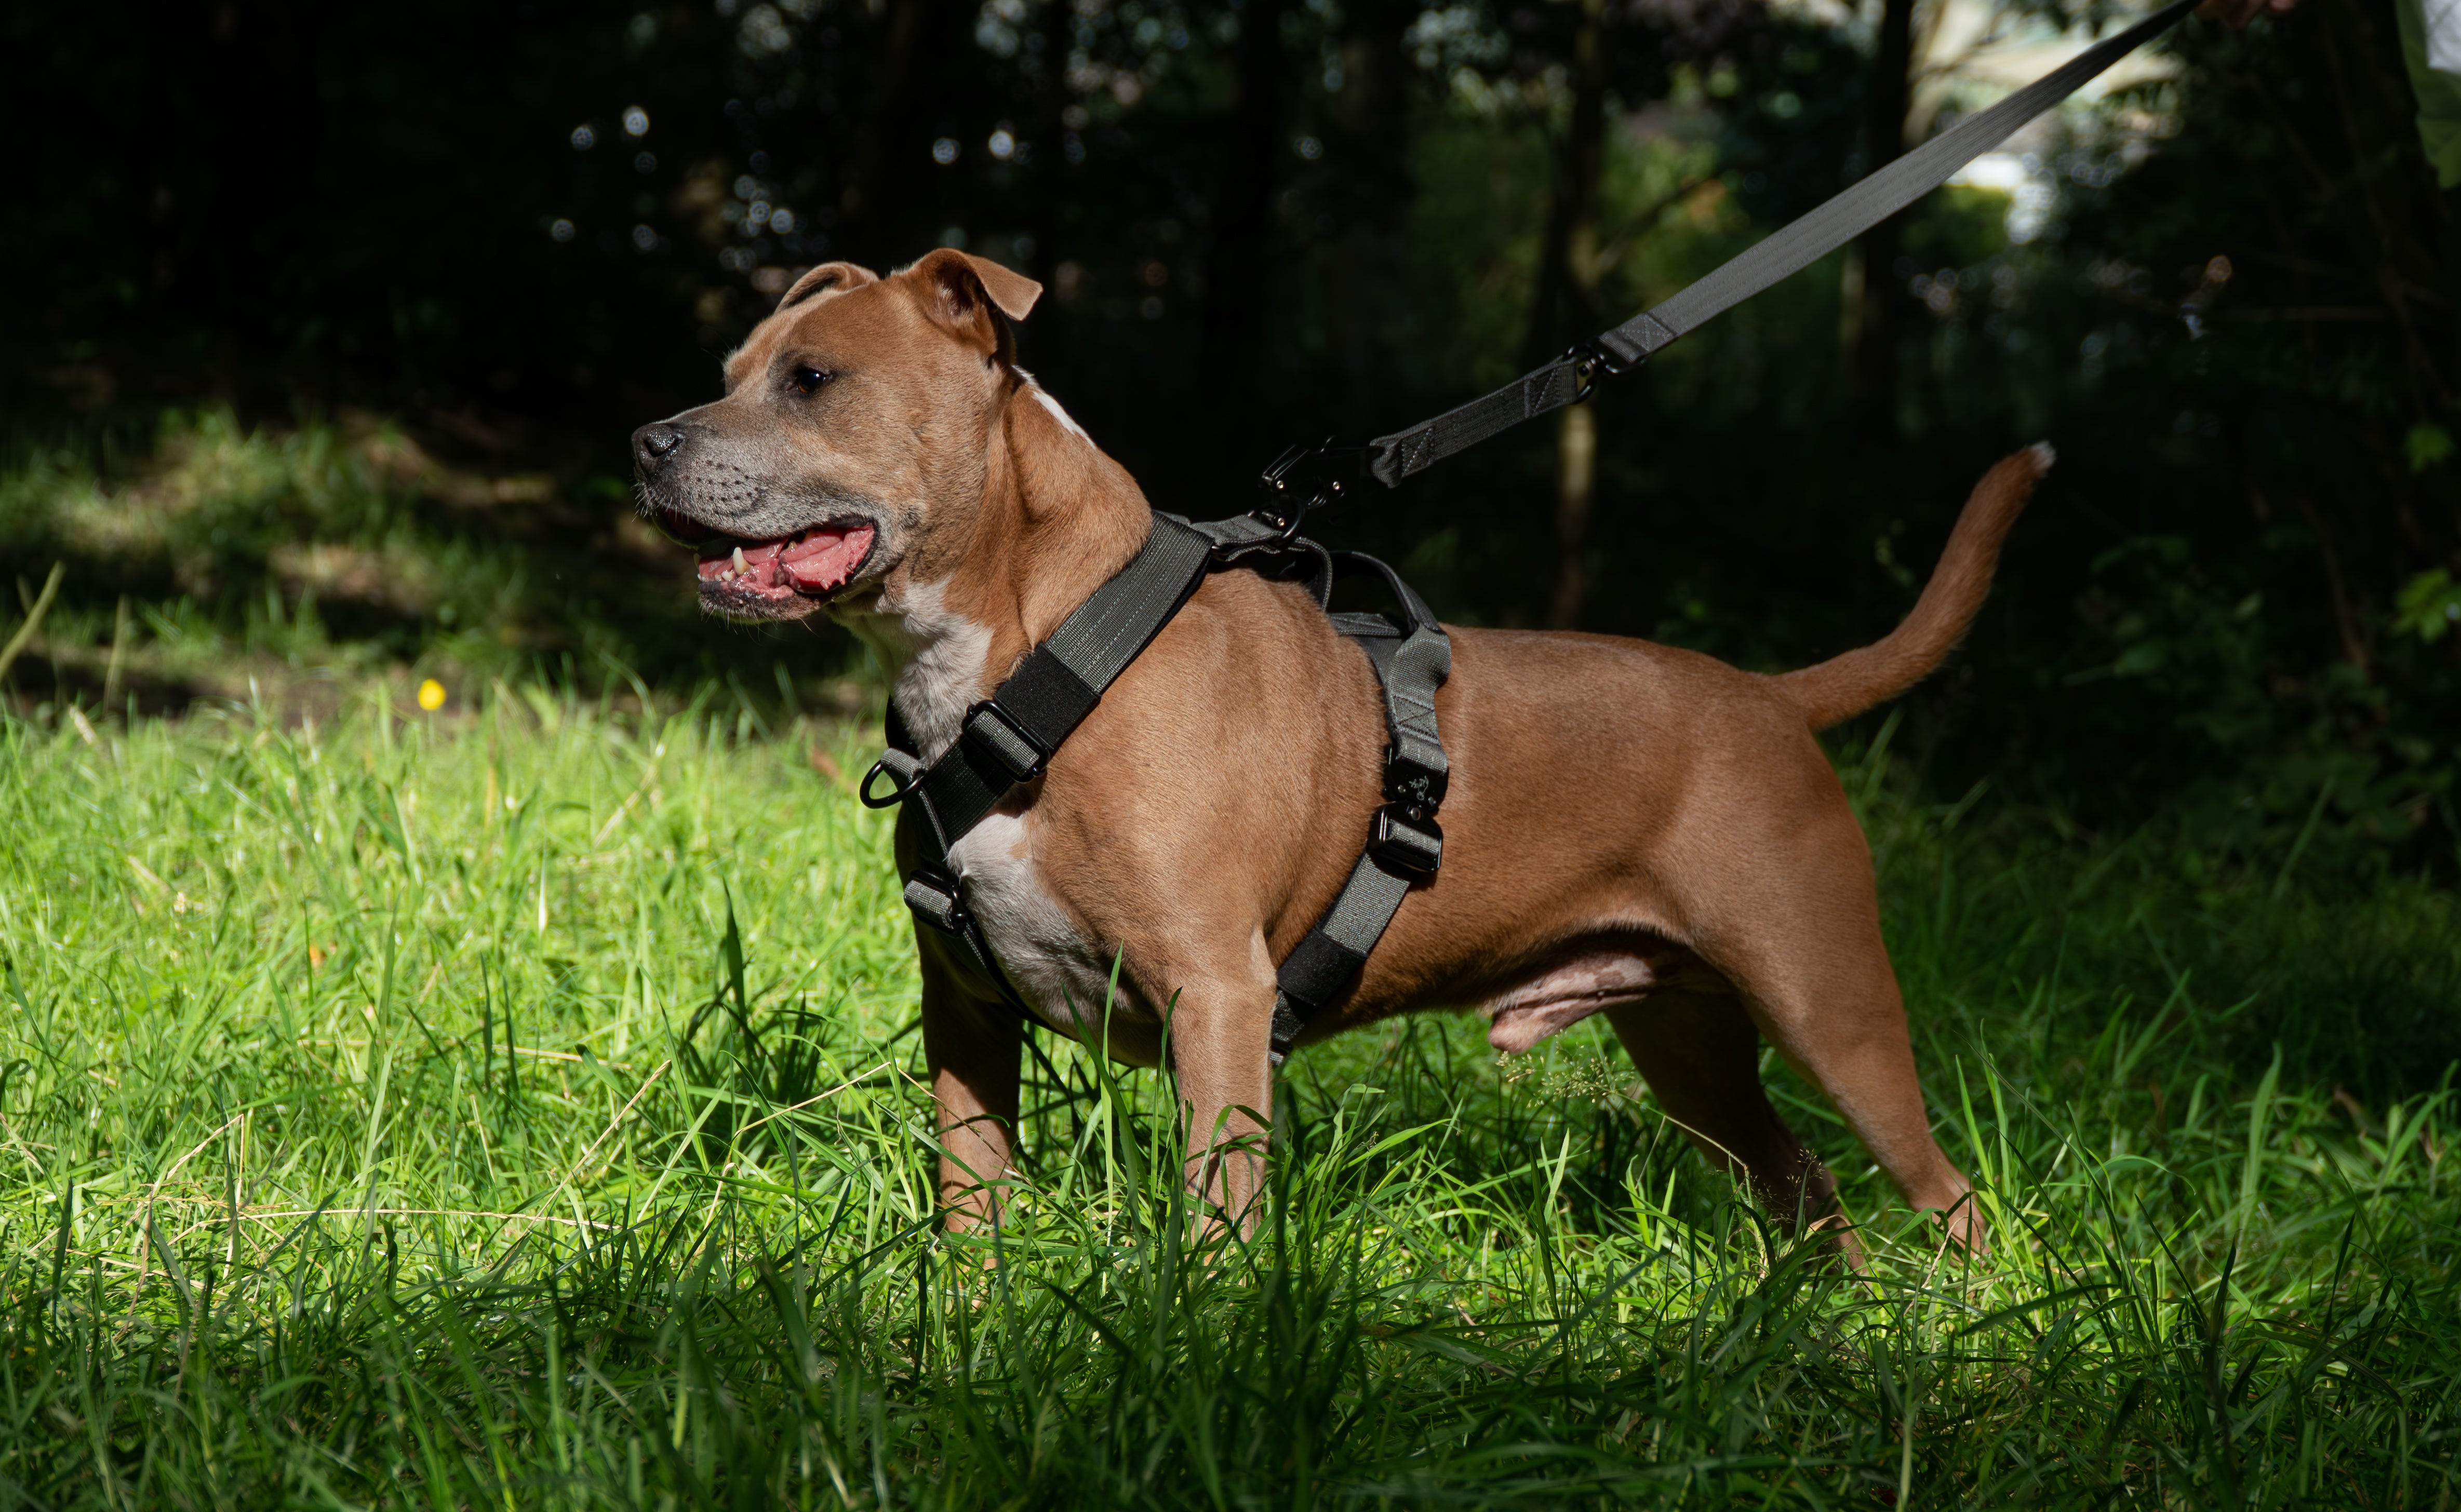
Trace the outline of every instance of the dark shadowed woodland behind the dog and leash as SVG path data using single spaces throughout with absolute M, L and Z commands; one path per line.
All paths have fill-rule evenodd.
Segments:
M 962 243 L 1029 270 L 1036 374 L 1159 506 L 1233 511 L 1285 443 L 1457 403 L 1851 182 L 1880 15 L 15 7 L 5 430 L 111 472 L 165 408 L 401 415 L 441 457 L 546 470 L 448 529 L 551 558 L 549 622 L 625 622 L 630 664 L 682 676 L 743 642 L 610 546 L 625 435 L 706 398 L 792 268 Z M 1585 526 L 1531 425 L 1324 534 L 1457 620 L 1792 666 L 1895 622 L 1971 479 L 2048 438 L 1993 605 L 1897 735 L 1925 782 L 2158 819 L 2190 865 L 2449 870 L 2461 337 L 2390 5 L 2190 25 L 2176 54 L 2033 138 L 2040 234 L 1949 189 L 1883 268 L 1831 258 L 1612 384 Z M 71 600 L 130 588 L 0 538 L 27 575 L 64 551 Z M 428 629 L 391 627 L 406 654 Z

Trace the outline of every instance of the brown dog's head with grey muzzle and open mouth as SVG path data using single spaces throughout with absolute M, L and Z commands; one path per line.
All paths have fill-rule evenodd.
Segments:
M 699 551 L 701 607 L 800 620 L 945 575 L 1016 379 L 1007 322 L 1036 295 L 947 248 L 795 280 L 726 359 L 726 398 L 632 433 L 642 511 Z

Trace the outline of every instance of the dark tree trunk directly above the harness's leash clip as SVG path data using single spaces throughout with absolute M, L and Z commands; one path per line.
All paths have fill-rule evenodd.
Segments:
M 1270 460 L 1238 452 L 1255 445 L 1250 430 L 1272 310 L 1272 189 L 1285 150 L 1282 10 L 1285 0 L 1248 0 L 1238 12 L 1238 101 L 1206 226 L 1196 384 L 1226 477 Z

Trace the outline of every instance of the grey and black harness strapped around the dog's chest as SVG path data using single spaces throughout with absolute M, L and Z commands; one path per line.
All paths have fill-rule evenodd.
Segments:
M 1381 561 L 1351 553 L 1334 558 L 1255 516 L 1191 524 L 1157 511 L 1144 548 L 1078 605 L 1016 674 L 967 711 L 957 740 L 938 760 L 920 760 L 891 701 L 891 750 L 861 784 L 864 804 L 901 804 L 901 829 L 920 824 L 915 841 L 923 841 L 930 860 L 906 878 L 906 907 L 920 922 L 962 939 L 999 998 L 1029 1020 L 1039 1015 L 999 969 L 979 919 L 965 907 L 965 888 L 947 853 L 1014 784 L 1034 779 L 1048 765 L 1103 701 L 1103 691 L 1189 602 L 1206 570 L 1253 556 L 1314 558 L 1309 588 L 1319 605 L 1336 573 L 1376 573 L 1405 620 L 1398 629 L 1378 615 L 1331 615 L 1334 627 L 1366 649 L 1383 693 L 1386 804 L 1371 816 L 1368 843 L 1349 883 L 1277 971 L 1275 1065 L 1290 1052 L 1307 1015 L 1329 1006 L 1356 978 L 1410 885 L 1432 878 L 1442 860 L 1435 809 L 1445 799 L 1450 767 L 1435 725 L 1435 688 L 1452 671 L 1452 644 L 1427 605 Z M 874 797 L 871 787 L 881 774 L 888 774 L 891 789 Z

